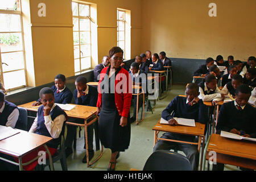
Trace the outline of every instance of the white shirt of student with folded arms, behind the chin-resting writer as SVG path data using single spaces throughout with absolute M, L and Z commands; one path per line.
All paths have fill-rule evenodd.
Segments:
M 222 100 L 221 90 L 218 89 L 217 85 L 216 85 L 216 89 L 215 89 L 213 94 L 205 95 L 204 91 L 210 92 L 210 91 L 213 91 L 213 90 L 208 90 L 206 83 L 204 83 L 204 90 L 199 86 L 199 93 L 200 94 L 199 94 L 198 97 L 201 100 L 203 100 L 204 102 L 207 102 L 207 101 L 220 101 L 220 100 Z

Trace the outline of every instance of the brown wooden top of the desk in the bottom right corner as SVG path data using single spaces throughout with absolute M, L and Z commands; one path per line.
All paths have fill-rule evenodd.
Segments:
M 238 156 L 256 160 L 256 143 L 221 137 L 217 134 L 210 136 L 207 151 L 216 151 L 220 154 Z

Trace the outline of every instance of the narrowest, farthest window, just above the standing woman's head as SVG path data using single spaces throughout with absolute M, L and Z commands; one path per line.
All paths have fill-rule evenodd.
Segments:
M 117 10 L 117 46 L 123 49 L 125 56 L 125 11 L 122 10 Z

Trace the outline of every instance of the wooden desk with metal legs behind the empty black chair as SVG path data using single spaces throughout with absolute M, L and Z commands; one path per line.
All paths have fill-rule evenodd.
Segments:
M 167 140 L 167 141 L 170 141 L 170 142 L 195 144 L 195 145 L 197 145 L 197 150 L 199 151 L 199 154 L 200 154 L 200 145 L 201 145 L 201 142 L 202 142 L 202 139 L 203 139 L 203 147 L 202 147 L 202 155 L 203 155 L 203 151 L 204 151 L 204 129 L 205 129 L 205 125 L 202 124 L 202 123 L 199 123 L 199 122 L 196 122 L 196 127 L 191 127 L 191 126 L 182 126 L 182 125 L 176 125 L 176 126 L 163 125 L 163 124 L 160 124 L 160 120 L 159 120 L 158 123 L 156 123 L 156 125 L 152 129 L 152 130 L 154 130 L 154 146 L 155 146 L 155 144 L 158 140 Z M 185 141 L 181 141 L 181 140 L 158 138 L 159 131 L 176 133 L 176 134 L 198 136 L 199 140 L 196 143 L 196 142 L 185 142 Z M 201 164 L 202 164 L 202 159 L 203 158 L 201 158 Z

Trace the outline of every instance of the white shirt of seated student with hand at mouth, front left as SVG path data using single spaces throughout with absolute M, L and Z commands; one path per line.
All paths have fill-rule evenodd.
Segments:
M 56 105 L 53 104 L 51 111 L 55 106 Z M 64 114 L 58 115 L 53 121 L 52 121 L 51 115 L 44 115 L 44 125 L 46 125 L 46 128 L 49 134 L 51 134 L 52 138 L 60 137 L 60 133 L 65 120 L 66 120 L 66 117 Z M 35 133 L 37 128 L 38 128 L 38 115 L 36 114 L 34 123 L 32 124 L 30 131 L 28 132 Z

